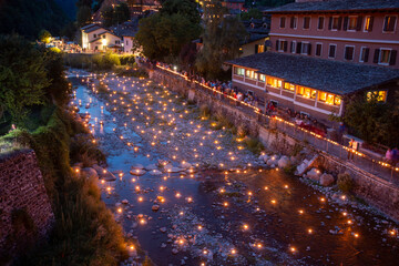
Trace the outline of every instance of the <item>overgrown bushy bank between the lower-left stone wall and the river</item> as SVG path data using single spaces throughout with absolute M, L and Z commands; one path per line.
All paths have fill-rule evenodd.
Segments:
M 73 152 L 80 145 L 70 139 L 82 133 L 88 133 L 82 124 L 55 110 L 47 126 L 8 136 L 34 150 L 55 215 L 49 242 L 21 257 L 20 265 L 116 265 L 126 255 L 122 228 L 101 201 L 95 181 L 71 172 L 70 145 L 75 145 Z

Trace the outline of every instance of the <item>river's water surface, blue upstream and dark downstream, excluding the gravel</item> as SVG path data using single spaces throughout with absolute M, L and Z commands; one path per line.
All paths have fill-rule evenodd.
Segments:
M 395 228 L 391 222 L 352 208 L 347 198 L 338 198 L 344 204 L 332 203 L 282 171 L 227 174 L 204 171 L 195 178 L 182 178 L 178 174 L 130 175 L 133 164 L 145 166 L 163 157 L 133 129 L 124 125 L 127 117 L 110 113 L 106 104 L 90 93 L 84 83 L 76 79 L 71 81 L 78 85 L 81 113 L 91 114 L 93 134 L 108 154 L 109 170 L 123 172 L 115 182 L 100 184 L 103 201 L 111 209 L 115 208 L 115 203 L 129 201 L 123 227 L 137 237 L 157 265 L 180 265 L 181 259 L 187 265 L 202 262 L 193 258 L 190 250 L 172 255 L 171 245 L 162 247 L 168 243 L 168 237 L 160 229 L 170 229 L 178 221 L 171 217 L 176 209 L 200 217 L 201 226 L 209 234 L 206 239 L 214 241 L 219 234 L 221 243 L 224 239 L 235 243 L 238 253 L 256 257 L 255 264 L 272 260 L 290 265 L 398 265 L 398 238 L 390 233 Z M 136 153 L 124 145 L 114 133 L 116 127 L 143 152 Z M 111 193 L 105 190 L 108 186 L 112 187 Z M 229 193 L 223 194 L 221 190 Z M 158 196 L 165 202 L 160 204 L 158 212 L 153 212 Z M 187 197 L 193 202 L 187 203 Z M 137 214 L 147 215 L 145 224 L 137 225 L 127 217 Z M 252 243 L 258 243 L 262 252 L 252 248 Z M 248 262 L 252 260 L 246 264 Z

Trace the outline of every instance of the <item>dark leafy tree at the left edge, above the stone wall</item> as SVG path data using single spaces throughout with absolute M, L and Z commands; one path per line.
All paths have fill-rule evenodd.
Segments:
M 20 124 L 28 108 L 43 104 L 50 85 L 44 60 L 31 43 L 18 35 L 0 37 L 0 102 Z

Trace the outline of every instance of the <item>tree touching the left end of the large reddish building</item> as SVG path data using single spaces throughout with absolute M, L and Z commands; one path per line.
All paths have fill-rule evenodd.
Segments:
M 247 34 L 243 23 L 237 18 L 226 17 L 226 12 L 218 0 L 211 1 L 204 12 L 203 48 L 195 66 L 209 79 L 218 78 L 223 72 L 223 62 L 238 55 L 239 41 Z

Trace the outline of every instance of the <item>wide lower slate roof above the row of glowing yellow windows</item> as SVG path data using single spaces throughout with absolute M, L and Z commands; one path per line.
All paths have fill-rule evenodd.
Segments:
M 256 53 L 226 63 L 340 95 L 399 80 L 399 70 L 278 52 Z

